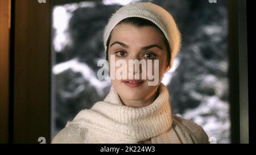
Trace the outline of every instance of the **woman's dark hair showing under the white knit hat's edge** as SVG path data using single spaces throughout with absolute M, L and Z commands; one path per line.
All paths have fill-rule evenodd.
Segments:
M 160 30 L 160 28 L 158 26 L 156 26 L 156 24 L 154 24 L 153 22 L 151 22 L 150 20 L 144 19 L 144 18 L 139 18 L 139 17 L 130 17 L 130 18 L 126 18 L 121 20 L 121 22 L 119 22 L 118 24 L 122 24 L 122 23 L 127 23 L 127 24 L 132 24 L 135 27 L 143 27 L 143 26 L 152 26 L 155 27 L 156 29 L 158 29 L 162 35 L 163 35 L 163 39 L 164 39 L 164 45 L 166 46 L 167 49 L 167 66 L 170 65 L 170 59 L 171 59 L 171 53 L 170 53 L 170 45 L 168 43 L 168 40 L 166 39 L 166 37 L 164 36 L 164 33 L 162 30 Z M 117 24 L 117 25 L 118 25 Z M 113 31 L 113 30 L 112 30 Z M 109 35 L 108 41 L 106 42 L 106 60 L 108 60 L 108 55 L 109 55 L 109 41 L 112 37 L 112 32 Z

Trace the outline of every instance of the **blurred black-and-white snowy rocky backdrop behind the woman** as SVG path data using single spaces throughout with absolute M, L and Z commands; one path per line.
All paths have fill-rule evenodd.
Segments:
M 111 82 L 97 78 L 105 58 L 103 30 L 110 15 L 137 1 L 81 1 L 52 12 L 52 128 L 54 137 L 67 121 L 109 93 Z M 181 32 L 181 50 L 163 83 L 172 113 L 201 125 L 211 143 L 230 143 L 228 101 L 227 1 L 148 1 L 169 11 Z

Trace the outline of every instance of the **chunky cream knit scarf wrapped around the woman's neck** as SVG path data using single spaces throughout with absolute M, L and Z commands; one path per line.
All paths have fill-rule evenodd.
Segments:
M 112 85 L 104 101 L 80 111 L 66 127 L 84 129 L 84 143 L 138 143 L 158 136 L 172 124 L 168 90 L 160 83 L 158 91 L 150 105 L 133 108 L 122 104 Z

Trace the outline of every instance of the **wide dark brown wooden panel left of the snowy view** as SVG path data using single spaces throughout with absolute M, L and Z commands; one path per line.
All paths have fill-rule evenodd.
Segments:
M 50 137 L 49 1 L 15 1 L 14 143 Z

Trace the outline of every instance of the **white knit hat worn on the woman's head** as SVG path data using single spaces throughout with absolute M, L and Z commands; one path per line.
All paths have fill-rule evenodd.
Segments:
M 174 57 L 180 49 L 181 37 L 179 29 L 177 28 L 174 18 L 172 18 L 172 15 L 169 12 L 150 2 L 131 3 L 130 5 L 121 7 L 110 17 L 104 30 L 105 51 L 107 49 L 106 43 L 113 28 L 117 26 L 121 20 L 130 17 L 139 17 L 150 20 L 163 31 L 171 48 L 170 63 L 172 65 Z

